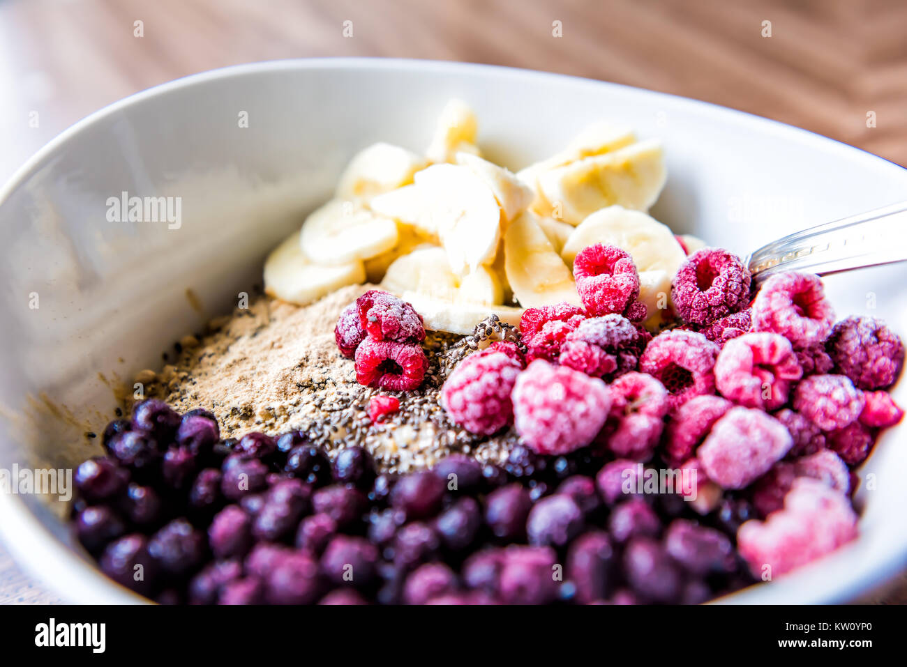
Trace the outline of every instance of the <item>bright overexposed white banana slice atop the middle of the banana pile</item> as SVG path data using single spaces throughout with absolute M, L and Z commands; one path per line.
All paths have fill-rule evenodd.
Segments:
M 492 264 L 502 210 L 485 181 L 467 167 L 435 164 L 416 172 L 415 186 L 429 206 L 453 273 Z

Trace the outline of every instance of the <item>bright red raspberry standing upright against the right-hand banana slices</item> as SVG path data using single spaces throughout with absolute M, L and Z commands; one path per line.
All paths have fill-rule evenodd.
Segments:
M 639 273 L 626 250 L 600 243 L 585 247 L 573 260 L 573 277 L 583 305 L 592 315 L 623 313 L 639 296 Z

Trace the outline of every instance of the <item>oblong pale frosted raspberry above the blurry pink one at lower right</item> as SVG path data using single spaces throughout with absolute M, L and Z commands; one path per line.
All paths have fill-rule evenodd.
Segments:
M 784 424 L 765 412 L 731 408 L 697 449 L 708 478 L 722 488 L 744 488 L 766 474 L 793 444 Z

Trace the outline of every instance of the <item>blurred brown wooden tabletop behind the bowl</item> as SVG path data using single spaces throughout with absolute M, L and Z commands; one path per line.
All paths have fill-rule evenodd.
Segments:
M 0 0 L 0 182 L 73 122 L 134 92 L 312 56 L 626 83 L 907 165 L 905 35 L 904 0 Z M 907 600 L 907 586 L 884 599 Z M 0 546 L 0 603 L 54 601 Z

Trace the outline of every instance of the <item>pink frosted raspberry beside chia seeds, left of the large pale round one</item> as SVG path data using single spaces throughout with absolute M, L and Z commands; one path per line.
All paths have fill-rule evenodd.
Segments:
M 513 420 L 511 392 L 522 364 L 492 348 L 472 353 L 453 369 L 441 389 L 441 404 L 470 433 L 491 435 Z

